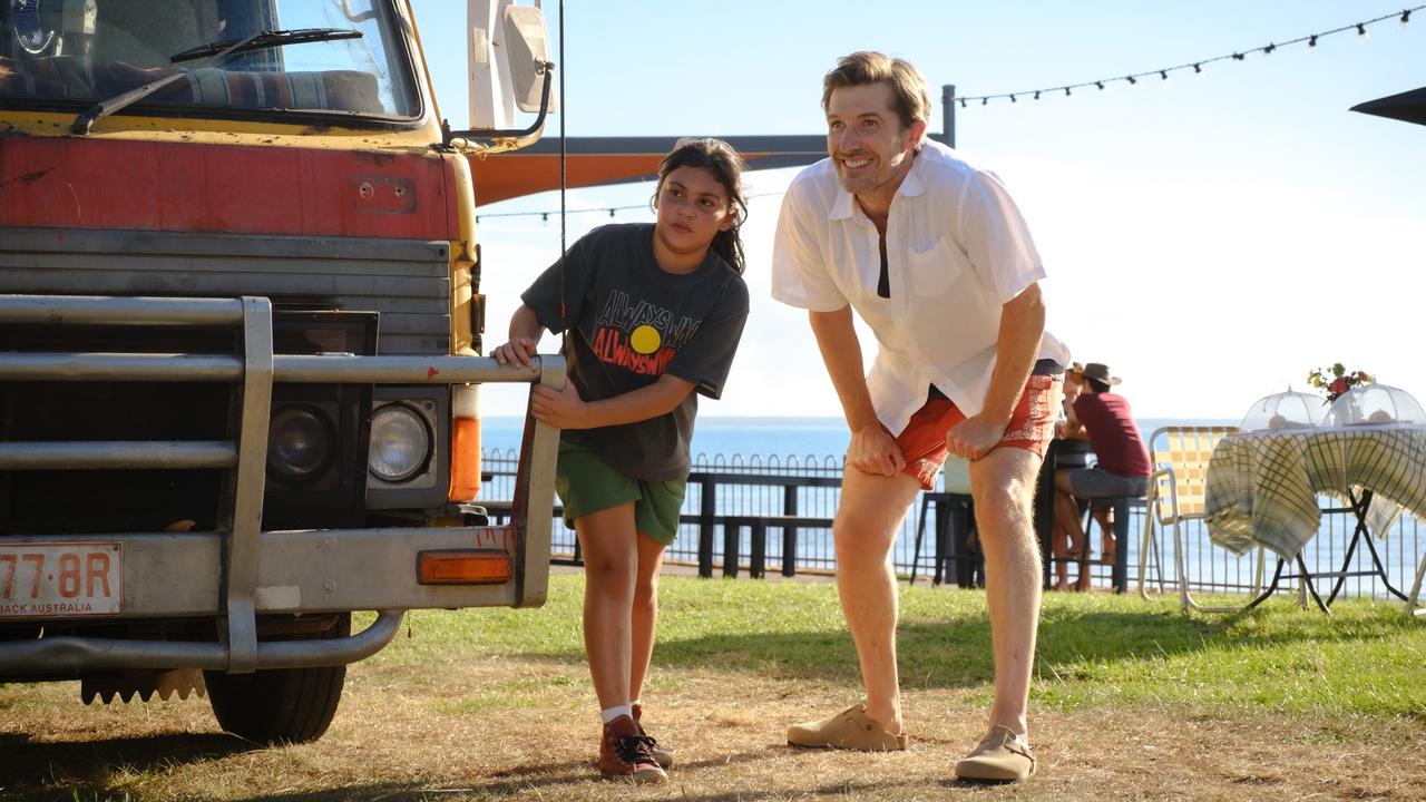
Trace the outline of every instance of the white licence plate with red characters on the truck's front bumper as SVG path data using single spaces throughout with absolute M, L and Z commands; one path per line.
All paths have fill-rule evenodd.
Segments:
M 0 544 L 0 618 L 118 615 L 123 562 L 118 542 Z

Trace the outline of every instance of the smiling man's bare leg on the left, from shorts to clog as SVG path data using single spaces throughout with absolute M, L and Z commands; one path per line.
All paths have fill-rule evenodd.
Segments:
M 877 477 L 848 467 L 831 529 L 837 594 L 861 662 L 867 715 L 893 735 L 901 734 L 901 688 L 896 665 L 896 572 L 888 558 L 918 489 L 920 484 L 906 474 Z

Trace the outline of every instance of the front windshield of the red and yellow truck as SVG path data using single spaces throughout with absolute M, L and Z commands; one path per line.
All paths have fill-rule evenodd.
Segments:
M 389 0 L 0 0 L 0 106 L 83 110 L 178 76 L 124 113 L 409 120 L 421 104 L 402 24 Z M 193 57 L 284 29 L 359 36 Z

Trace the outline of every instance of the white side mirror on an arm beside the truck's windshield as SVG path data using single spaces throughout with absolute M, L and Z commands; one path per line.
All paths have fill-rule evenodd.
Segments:
M 549 64 L 545 14 L 513 0 L 466 0 L 471 63 L 471 127 L 509 130 L 515 110 L 549 113 L 542 107 Z

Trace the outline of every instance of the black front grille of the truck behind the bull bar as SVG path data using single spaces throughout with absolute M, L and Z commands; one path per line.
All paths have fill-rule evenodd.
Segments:
M 352 313 L 278 313 L 274 351 L 317 354 L 322 345 L 371 355 L 375 317 Z M 231 330 L 194 327 L 0 325 L 0 351 L 16 354 L 241 355 Z M 0 441 L 224 441 L 237 427 L 237 385 L 185 381 L 0 382 Z M 301 407 L 331 431 L 334 452 L 301 481 L 270 477 L 270 528 L 364 524 L 366 421 L 371 388 L 348 384 L 282 385 L 272 411 Z M 222 469 L 0 471 L 0 535 L 214 531 L 221 525 Z

